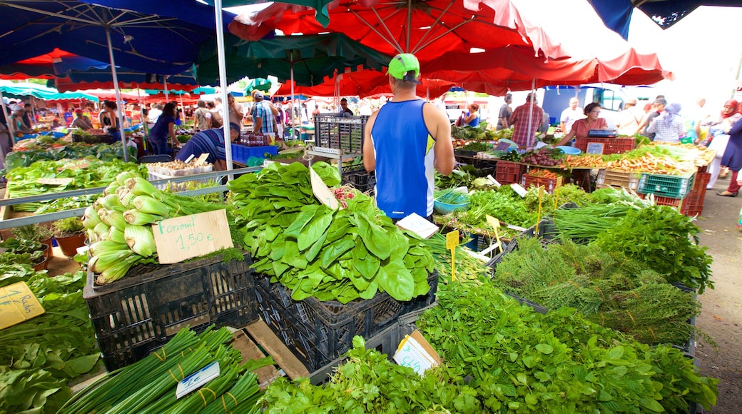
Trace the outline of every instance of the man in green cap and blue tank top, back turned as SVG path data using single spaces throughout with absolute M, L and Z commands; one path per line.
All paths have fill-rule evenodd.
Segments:
M 364 131 L 364 166 L 376 171 L 376 205 L 393 220 L 433 214 L 435 170 L 456 165 L 448 116 L 416 95 L 420 63 L 410 53 L 389 62 L 394 98 L 370 116 Z

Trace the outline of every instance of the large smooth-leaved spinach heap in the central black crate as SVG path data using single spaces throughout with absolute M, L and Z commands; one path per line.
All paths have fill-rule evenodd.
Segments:
M 337 184 L 332 170 L 315 165 L 327 184 Z M 229 188 L 237 193 L 232 200 L 240 205 L 252 266 L 291 289 L 295 300 L 348 303 L 379 290 L 410 300 L 430 289 L 432 255 L 372 198 L 359 192 L 347 200 L 348 208 L 332 210 L 315 199 L 309 170 L 298 162 L 245 175 Z

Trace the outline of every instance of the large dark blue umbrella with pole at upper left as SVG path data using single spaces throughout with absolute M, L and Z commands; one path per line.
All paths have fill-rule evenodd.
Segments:
M 196 1 L 171 4 L 109 1 L 111 4 L 107 5 L 116 3 L 117 9 L 99 3 L 99 0 L 2 1 L 0 65 L 60 47 L 79 56 L 110 62 L 116 96 L 119 96 L 116 62 L 148 73 L 182 73 L 193 65 L 198 46 L 215 36 L 214 20 L 204 19 L 211 14 L 211 7 Z M 132 7 L 148 8 L 151 13 L 131 11 Z M 152 10 L 154 7 L 157 10 Z M 223 13 L 221 17 L 229 22 L 234 15 Z M 122 145 L 125 145 L 123 137 Z

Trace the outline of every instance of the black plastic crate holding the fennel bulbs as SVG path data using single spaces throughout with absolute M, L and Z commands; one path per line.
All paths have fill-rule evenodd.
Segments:
M 164 266 L 136 266 L 126 277 L 93 286 L 88 272 L 83 298 L 108 371 L 125 367 L 164 345 L 185 326 L 212 323 L 241 328 L 256 321 L 250 257 L 220 257 Z

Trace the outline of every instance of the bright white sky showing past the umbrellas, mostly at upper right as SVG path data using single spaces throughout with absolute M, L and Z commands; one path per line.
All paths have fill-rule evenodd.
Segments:
M 674 81 L 654 85 L 654 95 L 691 107 L 699 97 L 709 108 L 721 108 L 734 95 L 742 62 L 742 42 L 735 36 L 742 22 L 742 7 L 702 6 L 662 30 L 641 10 L 634 9 L 628 45 L 608 30 L 586 0 L 510 0 L 522 15 L 544 27 L 576 54 L 611 56 L 631 45 L 640 52 L 654 52 Z M 232 7 L 233 13 L 251 7 Z M 257 6 L 265 7 L 265 5 Z M 570 22 L 565 24 L 565 22 Z M 572 23 L 574 22 L 574 23 Z M 577 50 L 580 49 L 580 50 Z

